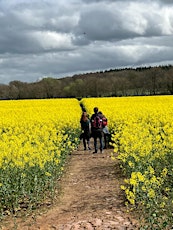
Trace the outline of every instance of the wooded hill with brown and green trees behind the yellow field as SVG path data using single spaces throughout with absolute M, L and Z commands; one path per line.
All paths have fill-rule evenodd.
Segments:
M 83 98 L 173 94 L 173 66 L 110 69 L 38 82 L 0 85 L 0 99 Z

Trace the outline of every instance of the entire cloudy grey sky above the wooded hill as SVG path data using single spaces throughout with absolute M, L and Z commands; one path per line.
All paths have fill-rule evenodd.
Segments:
M 173 0 L 0 0 L 0 83 L 173 65 Z

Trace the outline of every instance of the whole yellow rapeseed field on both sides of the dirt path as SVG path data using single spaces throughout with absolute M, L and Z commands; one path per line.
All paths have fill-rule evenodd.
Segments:
M 172 96 L 0 101 L 0 216 L 53 197 L 79 144 L 80 104 L 90 116 L 97 106 L 108 118 L 126 203 L 145 214 L 141 229 L 171 229 Z

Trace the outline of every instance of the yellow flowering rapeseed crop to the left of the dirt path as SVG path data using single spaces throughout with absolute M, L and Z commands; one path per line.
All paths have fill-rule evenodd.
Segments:
M 66 156 L 79 143 L 76 99 L 0 101 L 0 212 L 52 197 Z

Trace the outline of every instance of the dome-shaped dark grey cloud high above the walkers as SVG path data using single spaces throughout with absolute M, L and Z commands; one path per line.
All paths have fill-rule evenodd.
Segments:
M 123 29 L 119 12 L 112 13 L 108 9 L 92 9 L 81 14 L 76 30 L 76 37 L 79 41 L 81 34 L 85 40 L 117 40 L 137 36 L 133 31 Z

